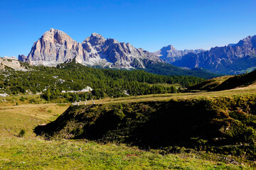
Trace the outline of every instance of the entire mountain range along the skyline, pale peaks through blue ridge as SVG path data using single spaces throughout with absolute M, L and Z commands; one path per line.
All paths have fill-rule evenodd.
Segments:
M 117 69 L 158 69 L 163 66 L 186 69 L 203 68 L 219 74 L 238 74 L 256 68 L 256 35 L 248 36 L 237 44 L 213 47 L 210 50 L 176 50 L 172 45 L 157 52 L 133 47 L 129 42 L 92 33 L 90 37 L 76 42 L 61 30 L 51 28 L 33 44 L 28 56 L 19 55 L 18 60 L 31 65 L 55 67 L 60 63 L 76 62 L 90 67 Z M 150 63 L 150 64 L 149 64 Z M 146 67 L 148 66 L 148 67 Z M 166 69 L 165 69 L 166 70 Z

